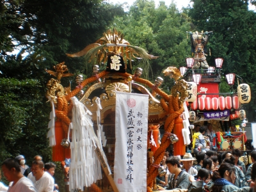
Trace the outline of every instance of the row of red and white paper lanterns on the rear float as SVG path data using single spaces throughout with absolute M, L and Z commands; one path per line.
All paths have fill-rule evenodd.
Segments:
M 237 96 L 227 97 L 199 97 L 198 100 L 191 102 L 191 109 L 193 110 L 224 110 L 224 109 L 239 109 L 240 103 Z

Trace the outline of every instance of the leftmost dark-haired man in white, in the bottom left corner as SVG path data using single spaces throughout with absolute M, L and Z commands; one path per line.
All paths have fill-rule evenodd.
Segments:
M 12 184 L 9 186 L 8 192 L 36 192 L 31 180 L 24 177 L 24 175 L 20 172 L 19 163 L 15 161 L 15 159 L 9 158 L 4 160 L 2 163 L 2 171 L 4 177 L 6 177 L 9 182 L 12 182 Z

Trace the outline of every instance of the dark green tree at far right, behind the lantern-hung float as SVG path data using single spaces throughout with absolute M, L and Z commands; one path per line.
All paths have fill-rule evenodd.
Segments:
M 224 58 L 223 73 L 234 72 L 250 84 L 252 101 L 244 105 L 249 120 L 254 120 L 256 93 L 255 70 L 255 12 L 248 10 L 248 1 L 241 0 L 194 0 L 189 17 L 197 31 L 213 31 L 209 41 L 212 55 L 207 58 L 214 65 L 214 58 Z M 241 83 L 241 81 L 240 81 Z M 236 88 L 236 85 L 234 86 Z

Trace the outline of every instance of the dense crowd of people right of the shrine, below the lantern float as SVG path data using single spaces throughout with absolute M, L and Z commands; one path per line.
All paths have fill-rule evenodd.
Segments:
M 196 182 L 201 182 L 202 191 L 256 191 L 256 151 L 252 151 L 252 164 L 247 170 L 239 160 L 241 151 L 238 149 L 222 154 L 212 150 L 198 152 L 196 158 L 191 153 L 186 153 L 182 159 L 179 156 L 167 156 L 164 155 L 163 162 L 168 172 L 163 177 L 157 176 L 157 185 L 162 187 L 159 189 L 179 188 L 190 191 L 198 186 Z M 193 164 L 194 161 L 197 164 Z

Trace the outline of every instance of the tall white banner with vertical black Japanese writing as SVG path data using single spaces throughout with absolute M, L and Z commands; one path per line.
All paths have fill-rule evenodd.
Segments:
M 148 95 L 116 92 L 114 181 L 118 191 L 147 191 Z

